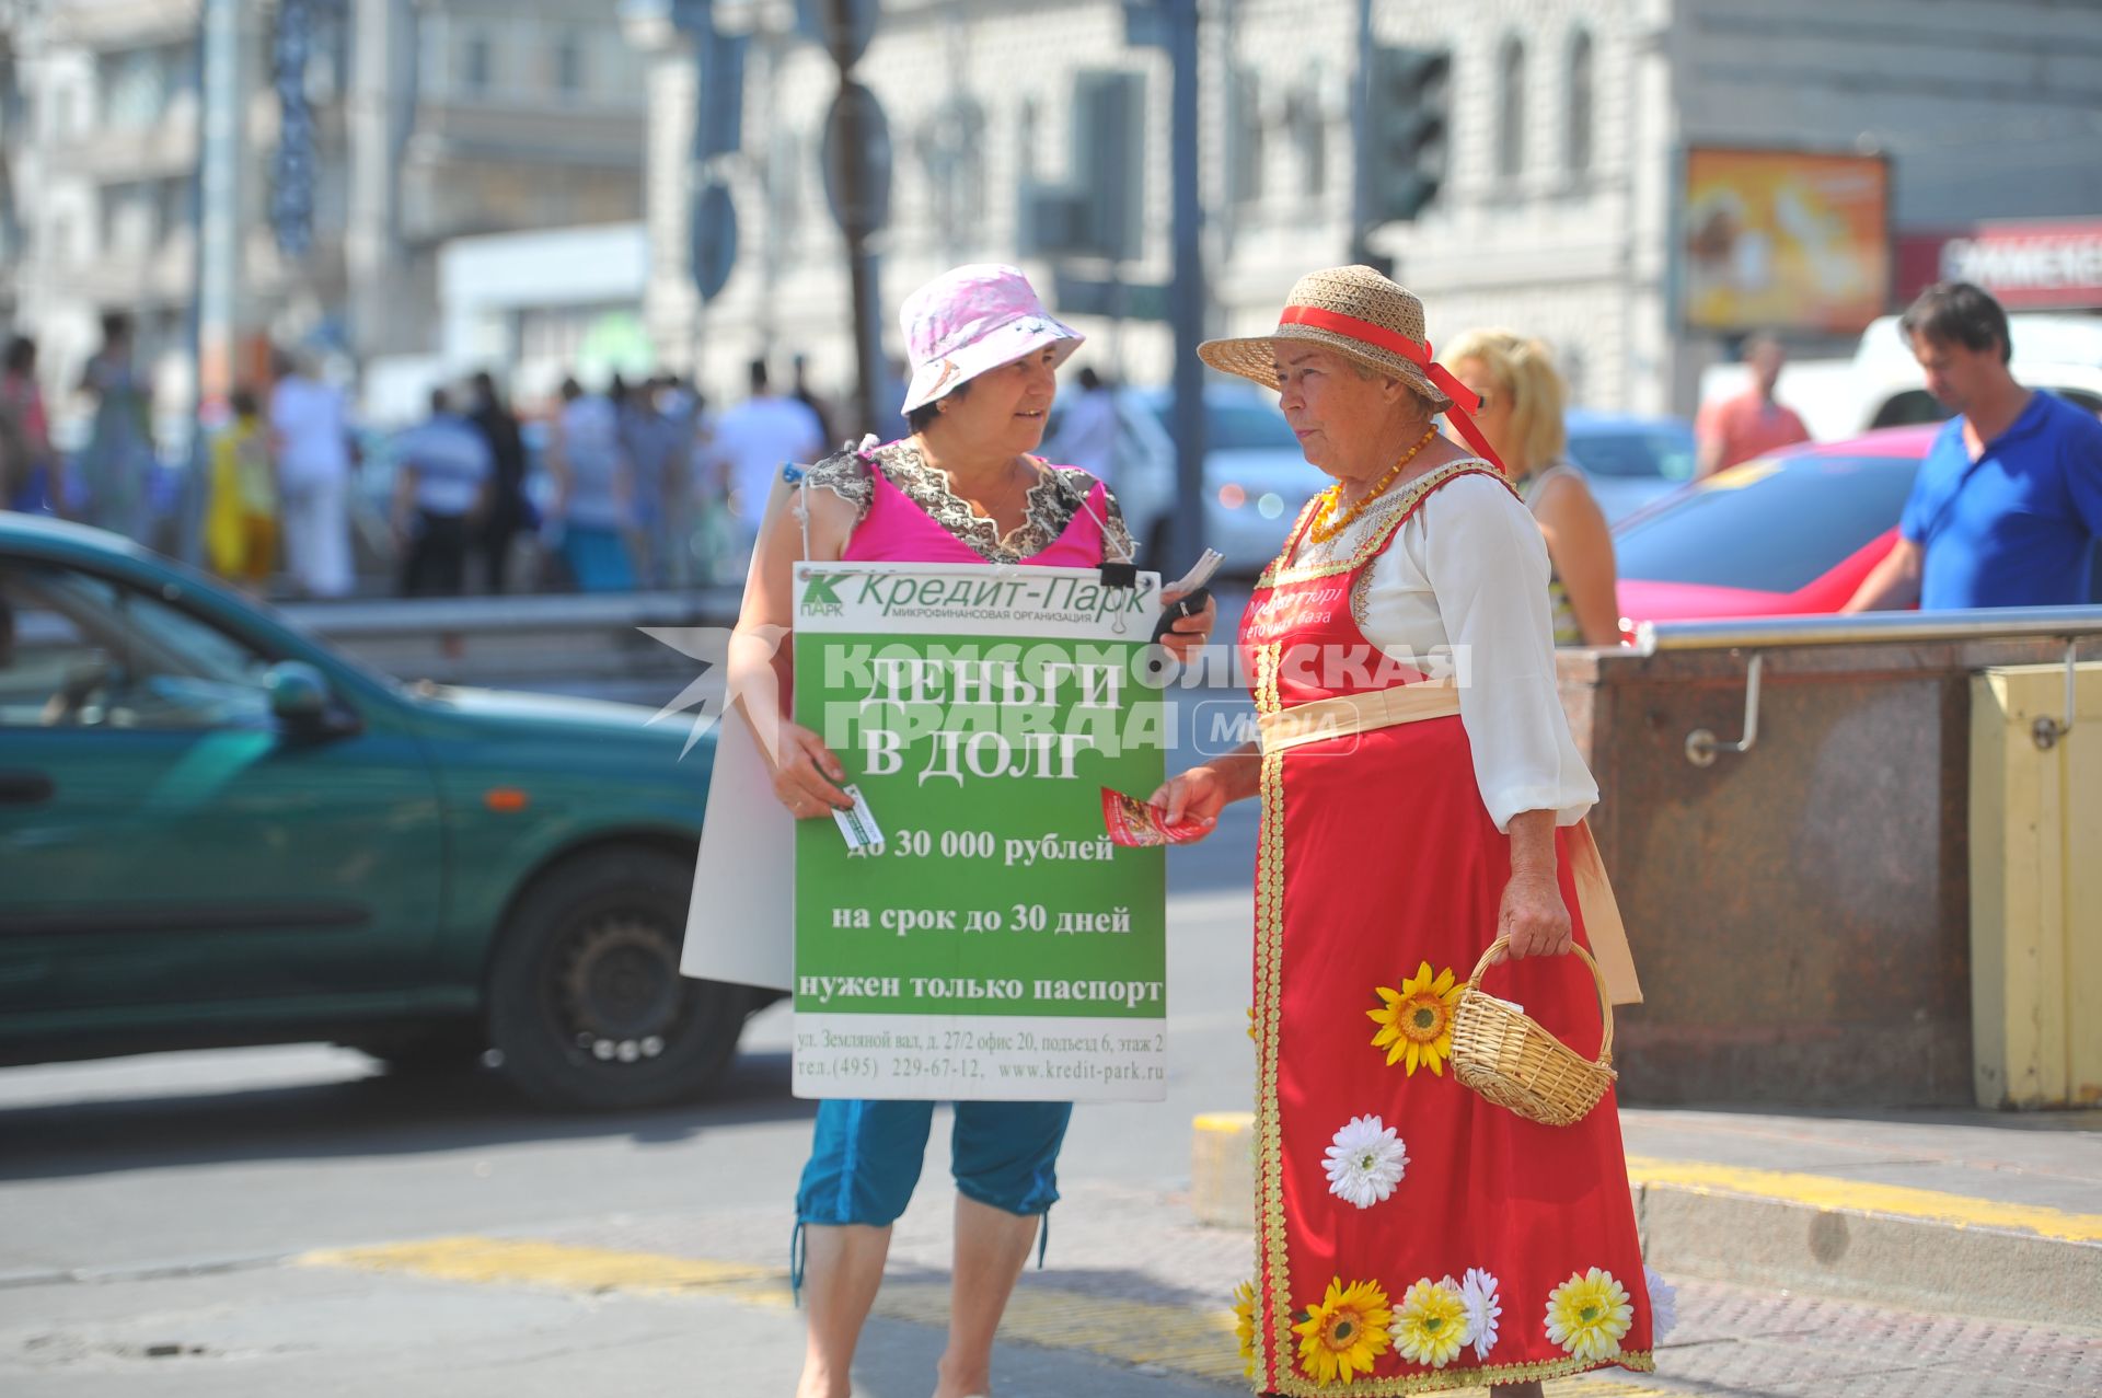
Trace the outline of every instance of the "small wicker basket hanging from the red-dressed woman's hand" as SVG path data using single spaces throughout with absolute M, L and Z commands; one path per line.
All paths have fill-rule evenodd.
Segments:
M 1507 944 L 1509 938 L 1490 942 L 1459 994 L 1459 1007 L 1452 1011 L 1452 1076 L 1528 1121 L 1549 1127 L 1576 1125 L 1619 1076 L 1612 1070 L 1612 1003 L 1606 999 L 1606 978 L 1600 975 L 1591 952 L 1576 946 L 1576 954 L 1591 967 L 1598 1013 L 1606 1022 L 1598 1062 L 1591 1064 L 1518 1005 L 1480 988 L 1482 971 Z

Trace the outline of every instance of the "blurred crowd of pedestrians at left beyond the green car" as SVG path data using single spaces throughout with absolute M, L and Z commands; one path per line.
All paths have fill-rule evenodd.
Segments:
M 317 355 L 275 351 L 210 427 L 195 509 L 162 469 L 153 391 L 124 313 L 80 374 L 78 450 L 55 444 L 38 345 L 0 372 L 0 509 L 76 519 L 198 557 L 240 589 L 290 597 L 395 591 L 622 591 L 742 580 L 763 481 L 816 460 L 834 410 L 795 355 L 788 393 L 750 366 L 750 397 L 706 408 L 679 376 L 561 383 L 517 410 L 492 372 L 429 391 L 410 425 L 370 431 Z

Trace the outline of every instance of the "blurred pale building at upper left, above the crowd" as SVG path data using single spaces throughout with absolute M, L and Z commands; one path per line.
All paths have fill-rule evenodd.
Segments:
M 311 21 L 311 242 L 273 231 L 273 40 L 294 0 L 15 0 L 0 74 L 0 311 L 40 343 L 67 402 L 103 311 L 137 322 L 139 359 L 181 431 L 195 393 L 206 92 L 200 42 L 235 34 L 231 376 L 269 341 L 353 364 L 427 355 L 446 336 L 439 265 L 456 240 L 633 225 L 643 210 L 643 57 L 601 0 L 296 0 Z M 561 267 L 547 275 L 559 277 Z M 500 362 L 490 368 L 502 368 Z M 210 378 L 214 374 L 206 374 Z

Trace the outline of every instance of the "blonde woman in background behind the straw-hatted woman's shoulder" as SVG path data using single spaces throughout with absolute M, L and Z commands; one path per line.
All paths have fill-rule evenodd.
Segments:
M 1482 397 L 1476 427 L 1503 458 L 1511 488 L 1547 538 L 1555 645 L 1619 645 L 1612 534 L 1583 473 L 1566 456 L 1562 410 L 1568 389 L 1553 351 L 1511 330 L 1471 330 L 1440 359 Z

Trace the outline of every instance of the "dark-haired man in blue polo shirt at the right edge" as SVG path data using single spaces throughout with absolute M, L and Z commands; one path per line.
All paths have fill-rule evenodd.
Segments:
M 1898 317 L 1928 393 L 1957 412 L 1919 462 L 1898 544 L 1843 612 L 2087 601 L 2102 536 L 2102 420 L 2007 372 L 2007 313 L 1936 282 Z

